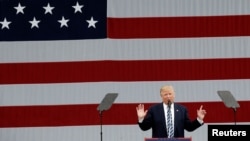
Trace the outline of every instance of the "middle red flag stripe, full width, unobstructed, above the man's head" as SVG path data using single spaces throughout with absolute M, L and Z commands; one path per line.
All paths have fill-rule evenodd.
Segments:
M 0 84 L 249 79 L 250 58 L 0 64 Z

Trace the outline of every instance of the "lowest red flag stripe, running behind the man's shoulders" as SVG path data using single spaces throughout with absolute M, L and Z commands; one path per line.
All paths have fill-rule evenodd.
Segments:
M 234 122 L 234 112 L 222 102 L 193 102 L 185 105 L 191 119 L 196 118 L 196 110 L 203 105 L 207 111 L 206 123 Z M 236 112 L 237 122 L 249 122 L 250 101 L 240 101 Z M 145 104 L 146 109 L 152 103 Z M 0 107 L 0 128 L 5 127 L 41 127 L 41 126 L 74 126 L 99 125 L 98 104 L 91 105 L 50 105 L 50 106 L 12 106 Z M 103 112 L 104 125 L 130 125 L 137 123 L 137 104 L 113 104 Z M 122 109 L 122 110 L 121 110 Z

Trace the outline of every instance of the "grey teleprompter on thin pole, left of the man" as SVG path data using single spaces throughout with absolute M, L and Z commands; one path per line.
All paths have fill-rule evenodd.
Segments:
M 106 94 L 105 97 L 102 99 L 102 102 L 97 107 L 97 110 L 99 111 L 99 115 L 100 115 L 101 141 L 102 141 L 102 114 L 103 114 L 103 111 L 108 110 L 112 106 L 112 104 L 115 101 L 117 96 L 118 96 L 118 93 Z

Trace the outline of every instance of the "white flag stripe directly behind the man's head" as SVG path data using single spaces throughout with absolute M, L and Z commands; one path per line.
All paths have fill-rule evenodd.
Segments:
M 107 93 L 119 93 L 115 103 L 155 103 L 159 88 L 172 84 L 176 102 L 221 101 L 218 90 L 231 91 L 237 100 L 249 100 L 250 80 L 99 82 L 0 85 L 2 106 L 98 104 Z

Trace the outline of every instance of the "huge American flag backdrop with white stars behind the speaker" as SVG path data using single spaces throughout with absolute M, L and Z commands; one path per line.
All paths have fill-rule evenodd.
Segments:
M 208 124 L 250 124 L 249 0 L 0 0 L 0 141 L 151 137 L 135 107 L 171 84 Z M 238 100 L 236 116 L 218 90 Z

